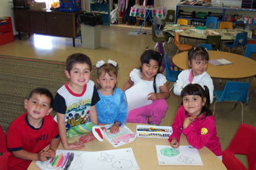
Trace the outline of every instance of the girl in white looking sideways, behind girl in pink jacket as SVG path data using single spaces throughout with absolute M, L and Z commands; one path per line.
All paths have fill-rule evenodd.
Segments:
M 209 54 L 204 47 L 193 47 L 188 52 L 188 66 L 191 69 L 183 70 L 178 76 L 174 85 L 174 94 L 180 96 L 181 91 L 187 84 L 202 84 L 208 87 L 210 103 L 213 102 L 213 81 L 206 73 L 209 61 Z

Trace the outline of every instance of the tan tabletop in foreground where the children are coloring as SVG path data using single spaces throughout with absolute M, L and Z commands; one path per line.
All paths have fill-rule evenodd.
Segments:
M 125 125 L 136 133 L 136 125 L 145 125 L 145 124 L 137 124 L 137 123 L 125 123 Z M 75 142 L 78 140 L 80 136 L 75 136 L 73 138 L 68 138 L 68 142 Z M 122 149 L 122 148 L 132 148 L 133 154 L 135 155 L 137 164 L 140 169 L 226 169 L 225 165 L 220 161 L 217 156 L 210 151 L 205 146 L 202 149 L 199 149 L 199 154 L 201 156 L 201 160 L 203 161 L 203 166 L 185 166 L 185 165 L 159 165 L 158 157 L 156 155 L 156 145 L 168 145 L 168 139 L 155 139 L 155 138 L 139 138 L 137 137 L 135 141 L 127 143 L 126 145 L 121 145 L 117 148 L 114 148 L 107 140 L 103 139 L 103 142 L 99 142 L 97 139 L 92 140 L 92 142 L 85 143 L 85 148 L 79 149 L 77 151 L 106 151 L 110 149 Z M 180 138 L 180 145 L 189 145 L 187 142 L 187 138 L 182 134 Z M 44 150 L 47 150 L 49 146 L 47 146 Z M 63 150 L 63 146 L 60 142 L 59 150 Z M 97 169 L 97 165 L 95 165 L 95 169 Z M 40 170 L 40 168 L 36 165 L 36 161 L 32 161 L 30 166 L 28 166 L 28 170 Z

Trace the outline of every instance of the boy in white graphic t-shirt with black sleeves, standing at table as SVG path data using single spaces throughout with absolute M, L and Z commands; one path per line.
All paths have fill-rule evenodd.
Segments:
M 95 104 L 100 100 L 94 82 L 90 79 L 92 64 L 90 58 L 81 53 L 69 55 L 66 59 L 66 76 L 70 81 L 57 90 L 53 110 L 57 112 L 57 124 L 63 148 L 74 150 L 84 148 L 84 143 L 95 137 L 92 133 L 82 136 L 79 142 L 68 143 L 66 130 L 87 122 L 98 125 Z

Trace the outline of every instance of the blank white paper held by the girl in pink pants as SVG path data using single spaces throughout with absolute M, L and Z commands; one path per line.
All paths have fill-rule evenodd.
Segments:
M 148 84 L 144 81 L 141 81 L 125 91 L 128 110 L 146 106 L 153 102 L 152 100 L 148 100 L 149 96 L 147 96 L 149 93 L 152 93 L 152 91 L 150 91 L 150 88 L 146 87 L 148 87 Z

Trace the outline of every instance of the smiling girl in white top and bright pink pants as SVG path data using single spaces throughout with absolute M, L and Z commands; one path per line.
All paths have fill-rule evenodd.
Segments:
M 137 93 L 132 93 L 132 102 L 145 96 L 146 99 L 152 100 L 152 103 L 131 109 L 129 108 L 129 101 L 131 100 L 127 99 L 129 110 L 127 122 L 159 125 L 162 118 L 165 117 L 168 109 L 165 100 L 169 98 L 170 94 L 166 77 L 159 71 L 161 63 L 161 54 L 157 51 L 146 50 L 140 57 L 140 68 L 135 68 L 130 72 L 130 78 L 126 81 L 122 90 L 130 89 L 133 84 L 135 88 L 142 87 Z M 151 117 L 151 120 L 149 117 Z

